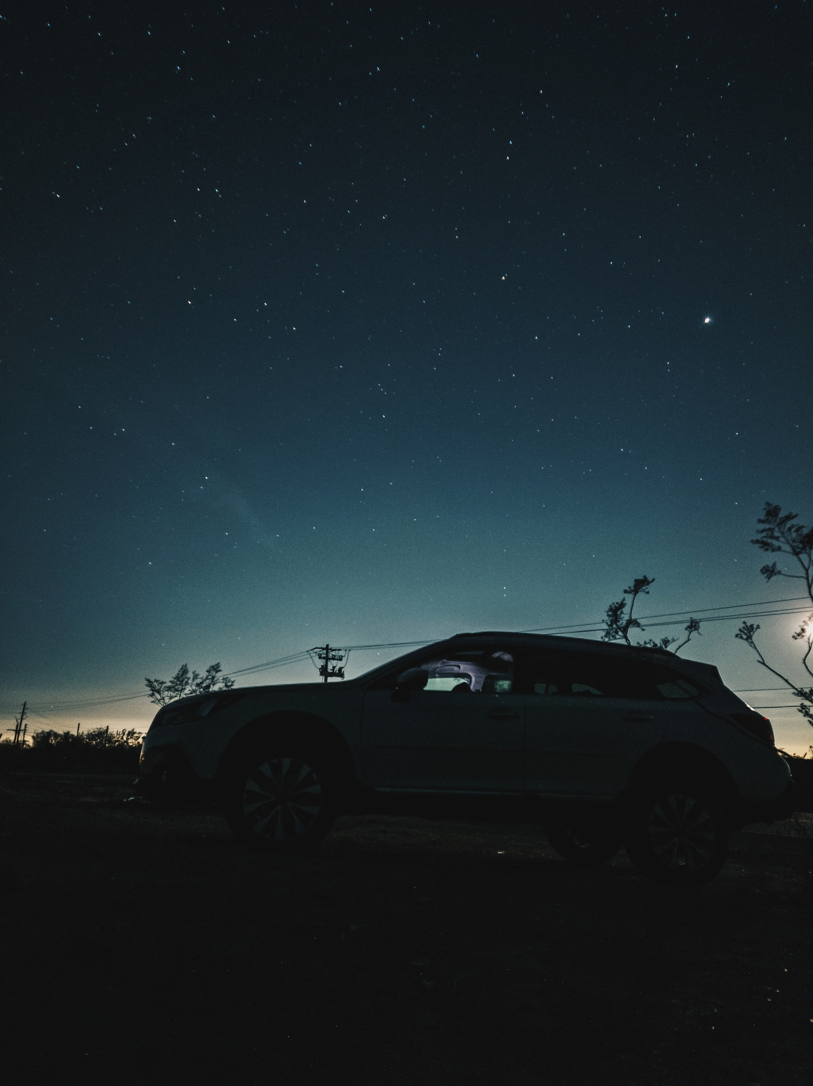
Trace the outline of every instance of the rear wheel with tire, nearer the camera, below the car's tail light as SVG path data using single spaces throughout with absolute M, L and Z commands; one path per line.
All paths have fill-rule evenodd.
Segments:
M 728 853 L 719 790 L 691 770 L 653 782 L 633 800 L 625 847 L 638 871 L 655 882 L 709 882 Z

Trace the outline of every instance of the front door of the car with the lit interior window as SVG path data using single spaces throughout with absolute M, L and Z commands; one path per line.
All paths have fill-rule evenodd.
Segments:
M 499 655 L 494 655 L 494 654 Z M 365 780 L 388 791 L 522 791 L 524 698 L 498 646 L 427 660 L 427 689 L 394 695 L 396 674 L 365 693 Z

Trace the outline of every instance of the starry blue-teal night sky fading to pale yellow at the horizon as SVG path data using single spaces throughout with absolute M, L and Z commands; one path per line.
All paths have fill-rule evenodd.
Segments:
M 801 594 L 748 541 L 813 517 L 810 3 L 17 3 L 0 39 L 2 727 L 595 627 L 641 573 L 641 615 Z M 800 679 L 797 623 L 761 635 Z M 736 626 L 684 655 L 776 686 Z

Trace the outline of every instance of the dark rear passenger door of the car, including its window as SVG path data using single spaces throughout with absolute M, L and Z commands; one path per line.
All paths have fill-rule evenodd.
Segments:
M 666 730 L 664 702 L 641 668 L 590 653 L 533 657 L 523 684 L 526 792 L 609 798 L 623 790 Z

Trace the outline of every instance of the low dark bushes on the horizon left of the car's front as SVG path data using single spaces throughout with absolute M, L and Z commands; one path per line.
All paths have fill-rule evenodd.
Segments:
M 37 732 L 25 746 L 0 743 L 0 769 L 62 773 L 138 772 L 142 733 L 94 728 L 75 732 Z

